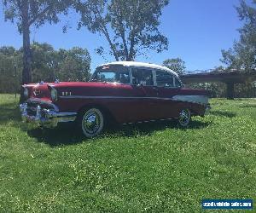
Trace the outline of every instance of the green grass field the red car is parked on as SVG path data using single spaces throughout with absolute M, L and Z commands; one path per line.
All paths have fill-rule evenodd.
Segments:
M 201 199 L 256 199 L 255 99 L 214 99 L 187 130 L 139 124 L 90 140 L 27 127 L 17 101 L 0 95 L 1 212 L 201 212 Z

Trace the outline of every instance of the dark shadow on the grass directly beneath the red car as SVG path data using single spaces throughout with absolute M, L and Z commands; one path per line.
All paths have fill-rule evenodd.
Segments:
M 210 123 L 201 121 L 193 121 L 191 125 L 186 129 L 203 129 Z M 99 137 L 134 137 L 138 135 L 152 135 L 154 131 L 166 130 L 166 129 L 178 128 L 177 123 L 174 121 L 164 122 L 151 122 L 143 124 L 129 124 L 129 125 L 113 125 L 108 127 L 102 135 Z M 63 125 L 55 129 L 32 129 L 27 130 L 27 134 L 34 137 L 38 142 L 44 142 L 51 147 L 57 147 L 61 145 L 73 145 L 86 141 L 86 138 L 75 128 L 74 125 Z

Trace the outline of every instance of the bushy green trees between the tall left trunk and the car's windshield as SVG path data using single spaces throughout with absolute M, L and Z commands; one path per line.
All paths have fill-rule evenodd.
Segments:
M 55 50 L 48 43 L 32 43 L 33 82 L 86 81 L 90 78 L 90 54 L 87 49 Z

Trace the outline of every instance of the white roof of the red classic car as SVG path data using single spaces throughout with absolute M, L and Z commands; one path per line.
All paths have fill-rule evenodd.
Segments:
M 123 66 L 140 66 L 140 67 L 147 67 L 153 69 L 164 70 L 166 72 L 172 72 L 172 74 L 177 76 L 177 73 L 172 71 L 171 69 L 167 68 L 166 66 L 160 66 L 150 63 L 143 63 L 143 62 L 135 62 L 135 61 L 115 61 L 107 64 L 102 64 L 101 66 L 108 66 L 108 65 L 123 65 Z

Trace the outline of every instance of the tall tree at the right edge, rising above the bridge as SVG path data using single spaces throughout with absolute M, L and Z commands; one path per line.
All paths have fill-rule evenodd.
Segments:
M 240 40 L 234 43 L 233 48 L 222 50 L 221 61 L 229 68 L 256 69 L 256 0 L 252 5 L 242 0 L 236 10 L 245 24 L 239 29 Z

